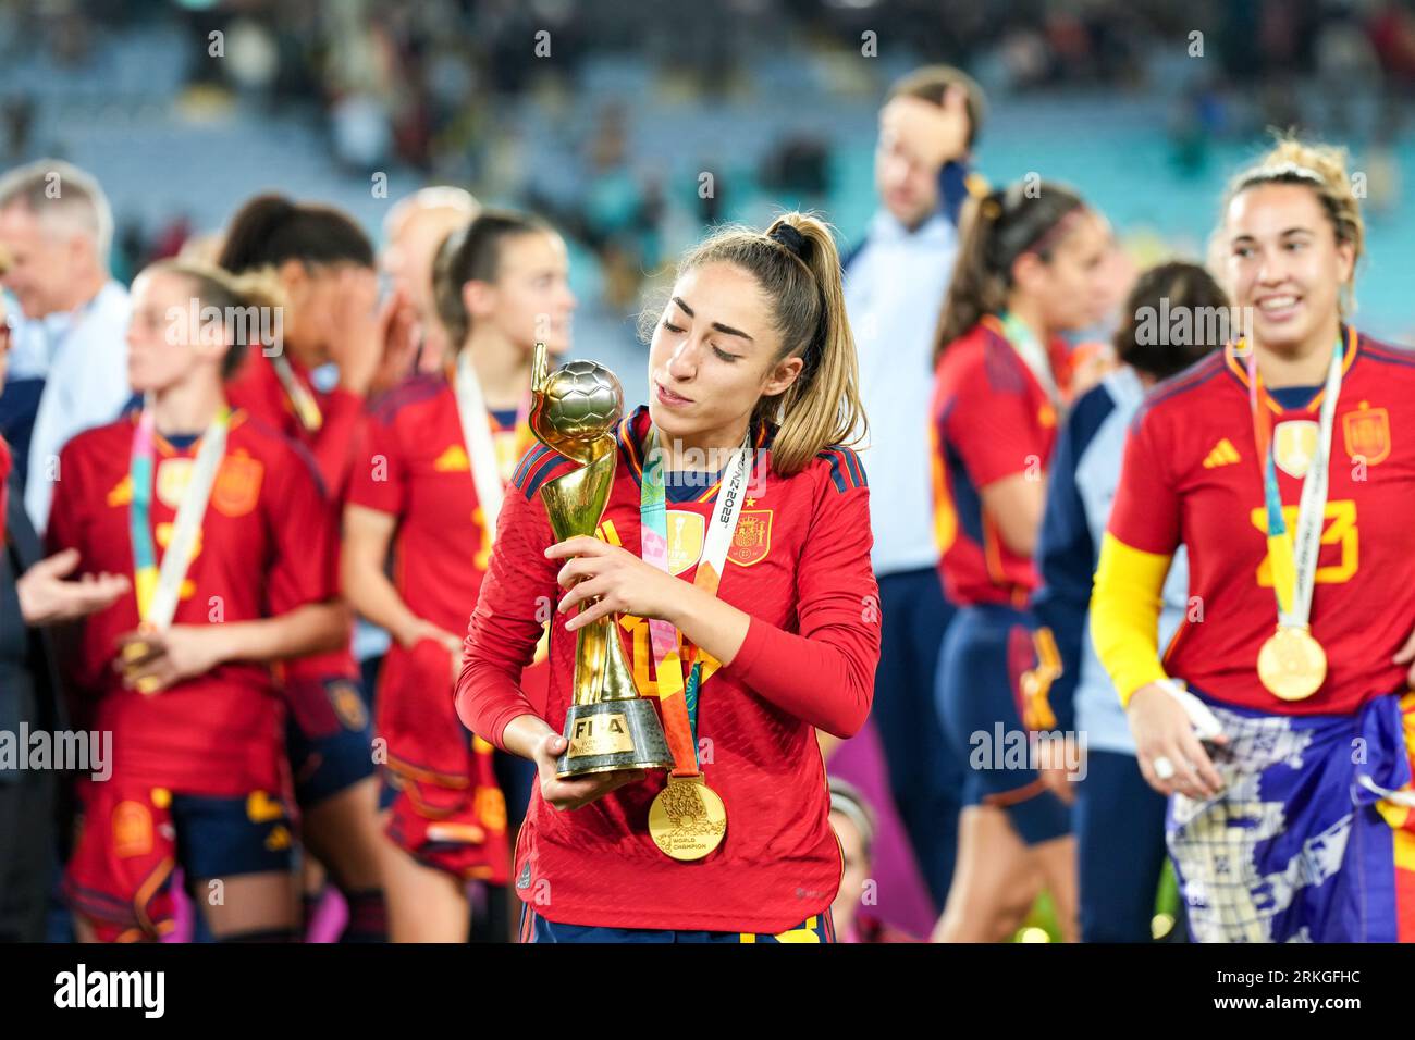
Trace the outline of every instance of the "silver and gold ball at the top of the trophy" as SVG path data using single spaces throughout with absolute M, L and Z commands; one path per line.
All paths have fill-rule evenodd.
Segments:
M 604 365 L 570 361 L 548 372 L 545 347 L 536 344 L 531 393 L 531 430 L 542 443 L 586 464 L 613 449 L 624 388 Z

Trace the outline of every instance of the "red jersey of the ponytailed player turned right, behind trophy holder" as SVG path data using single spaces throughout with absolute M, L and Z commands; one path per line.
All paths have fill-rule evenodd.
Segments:
M 1051 368 L 1067 369 L 1065 345 L 1050 345 Z M 1058 375 L 1058 382 L 1063 376 Z M 1037 586 L 1032 559 L 1002 541 L 982 507 L 982 488 L 1015 474 L 1046 481 L 1057 413 L 1002 325 L 985 317 L 944 351 L 930 415 L 934 535 L 951 603 L 1024 607 Z

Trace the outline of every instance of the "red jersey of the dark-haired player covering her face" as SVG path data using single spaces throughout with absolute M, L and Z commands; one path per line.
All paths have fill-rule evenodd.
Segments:
M 289 358 L 289 355 L 286 357 Z M 226 399 L 232 408 L 243 409 L 266 426 L 308 449 L 318 467 L 337 522 L 348 488 L 350 463 L 354 457 L 358 423 L 364 415 L 364 402 L 348 391 L 335 389 L 330 393 L 317 391 L 304 366 L 293 358 L 289 359 L 294 378 L 320 408 L 318 429 L 306 429 L 304 423 L 300 422 L 294 405 L 290 402 L 290 395 L 286 393 L 275 372 L 275 365 L 260 349 L 249 351 L 236 375 L 226 381 Z M 354 661 L 351 647 L 289 661 L 283 669 L 291 679 L 358 678 L 358 664 Z

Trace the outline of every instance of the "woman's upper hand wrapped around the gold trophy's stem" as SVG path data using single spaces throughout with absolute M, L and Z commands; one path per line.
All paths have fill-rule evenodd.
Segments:
M 565 623 L 574 631 L 607 614 L 633 614 L 668 620 L 674 603 L 685 594 L 685 583 L 634 553 L 597 538 L 579 536 L 545 550 L 550 559 L 566 559 L 556 582 L 569 589 L 558 610 L 563 614 L 580 603 L 589 604 Z

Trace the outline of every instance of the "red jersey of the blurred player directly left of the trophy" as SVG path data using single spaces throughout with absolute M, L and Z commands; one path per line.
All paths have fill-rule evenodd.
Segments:
M 508 444 L 533 441 L 529 429 L 490 420 L 498 453 L 509 456 Z M 477 603 L 490 546 L 457 395 L 443 375 L 413 376 L 374 406 L 365 432 L 366 450 L 354 466 L 348 501 L 398 519 L 398 594 L 417 617 L 461 632 Z M 468 734 L 457 720 L 451 661 L 440 647 L 424 644 L 389 648 L 376 729 L 388 741 L 389 767 L 453 784 L 471 768 Z

